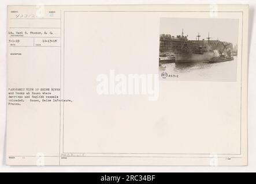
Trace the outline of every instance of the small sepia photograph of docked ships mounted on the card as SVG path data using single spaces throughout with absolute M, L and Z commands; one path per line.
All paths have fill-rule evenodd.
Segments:
M 162 80 L 236 81 L 238 19 L 161 18 Z

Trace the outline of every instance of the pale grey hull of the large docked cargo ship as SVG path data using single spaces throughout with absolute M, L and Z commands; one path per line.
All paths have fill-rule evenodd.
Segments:
M 175 62 L 176 63 L 202 62 L 202 61 L 213 59 L 213 57 L 214 57 L 214 52 L 204 52 L 203 54 L 176 53 Z

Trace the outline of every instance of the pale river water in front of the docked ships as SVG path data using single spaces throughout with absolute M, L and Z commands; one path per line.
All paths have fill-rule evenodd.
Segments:
M 173 75 L 178 74 L 179 78 L 166 78 L 170 80 L 190 80 L 190 81 L 236 81 L 236 60 L 220 63 L 208 62 L 187 62 L 168 63 L 159 67 L 159 74 L 162 72 Z M 165 67 L 166 66 L 166 67 Z

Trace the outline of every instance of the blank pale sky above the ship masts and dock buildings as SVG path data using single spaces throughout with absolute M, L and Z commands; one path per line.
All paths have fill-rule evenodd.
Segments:
M 238 43 L 238 19 L 227 18 L 161 18 L 160 34 L 180 35 L 182 29 L 188 40 L 195 40 L 198 32 L 200 40 L 208 37 L 210 40 L 227 41 L 236 45 Z

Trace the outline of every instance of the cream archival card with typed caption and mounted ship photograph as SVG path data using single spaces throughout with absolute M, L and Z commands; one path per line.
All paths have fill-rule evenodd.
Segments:
M 8 6 L 8 165 L 246 166 L 248 6 Z

